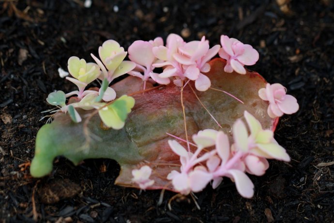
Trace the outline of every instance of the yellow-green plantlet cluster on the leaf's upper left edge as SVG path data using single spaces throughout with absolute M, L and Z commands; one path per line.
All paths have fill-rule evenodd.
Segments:
M 76 84 L 78 91 L 68 94 L 64 94 L 62 91 L 53 92 L 49 94 L 46 101 L 59 107 L 61 112 L 69 112 L 70 117 L 76 123 L 82 121 L 76 109 L 96 109 L 99 110 L 100 118 L 106 127 L 122 128 L 127 114 L 135 105 L 135 99 L 124 95 L 113 101 L 116 98 L 116 92 L 108 84 L 135 67 L 133 62 L 123 61 L 126 54 L 124 48 L 121 48 L 116 41 L 108 40 L 99 48 L 99 55 L 106 67 L 93 55 L 92 57 L 97 64 L 86 63 L 84 59 L 75 56 L 71 57 L 68 60 L 68 70 L 74 78 L 66 77 L 66 79 Z M 98 78 L 103 80 L 98 91 L 85 90 L 89 83 Z M 74 102 L 66 105 L 66 97 L 74 95 L 77 96 Z M 101 100 L 105 102 L 101 102 Z M 112 103 L 107 105 L 106 102 L 109 101 Z

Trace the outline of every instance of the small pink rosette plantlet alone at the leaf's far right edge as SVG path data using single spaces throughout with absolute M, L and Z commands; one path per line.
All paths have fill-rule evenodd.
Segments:
M 281 117 L 283 114 L 293 114 L 299 109 L 297 99 L 287 95 L 287 89 L 279 83 L 267 83 L 266 88 L 261 88 L 258 91 L 258 96 L 262 100 L 269 101 L 268 115 L 271 118 Z

